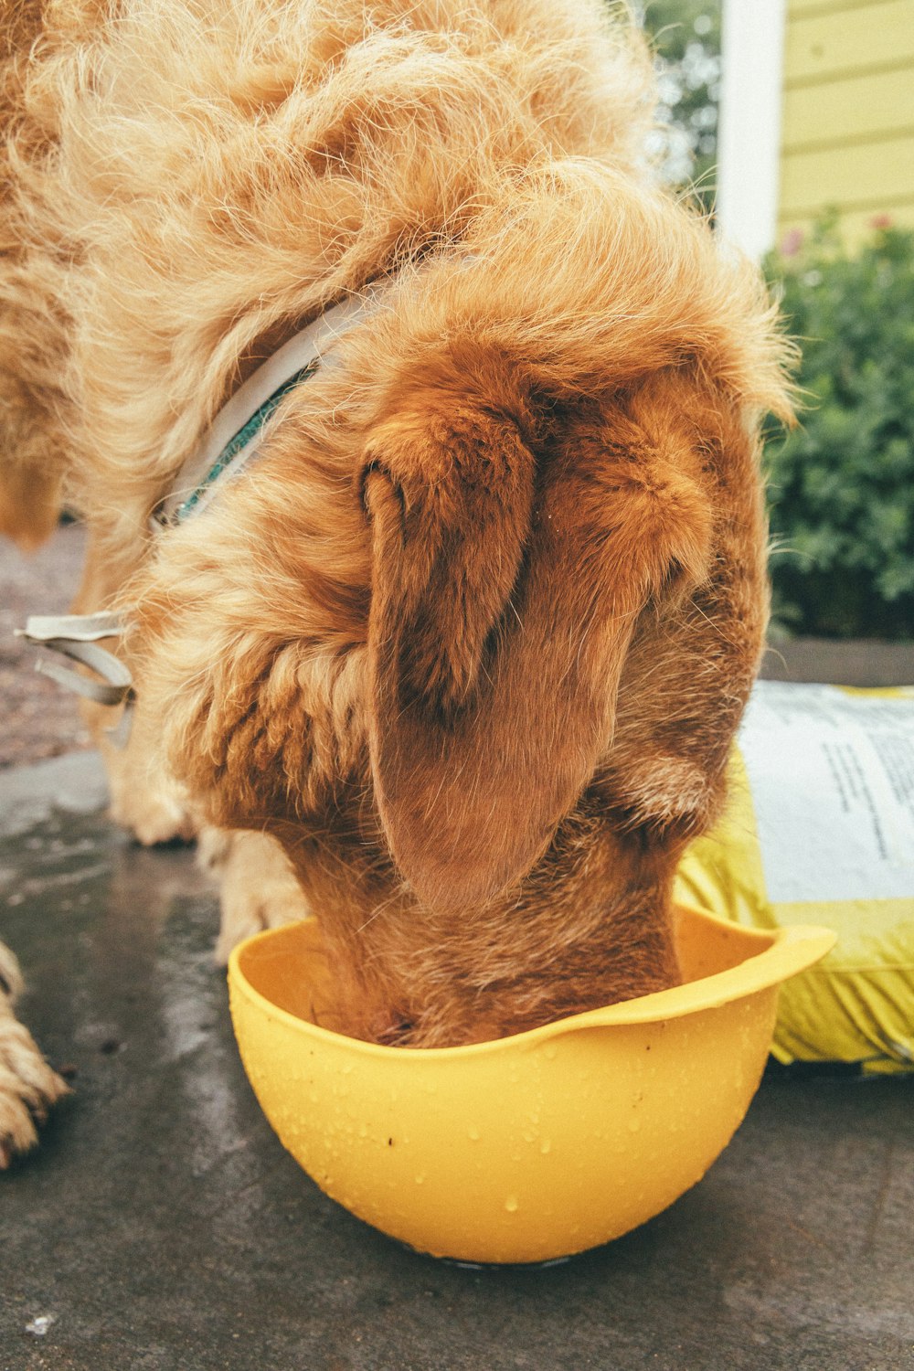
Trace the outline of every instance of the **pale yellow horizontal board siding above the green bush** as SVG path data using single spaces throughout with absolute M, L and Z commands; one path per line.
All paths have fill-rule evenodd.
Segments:
M 830 207 L 851 240 L 914 226 L 914 0 L 789 0 L 781 137 L 778 240 Z

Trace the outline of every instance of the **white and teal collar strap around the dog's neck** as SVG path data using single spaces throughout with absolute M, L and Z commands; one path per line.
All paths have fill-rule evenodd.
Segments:
M 273 354 L 222 406 L 174 485 L 152 515 L 153 529 L 182 522 L 212 499 L 223 480 L 237 476 L 260 447 L 267 420 L 280 400 L 318 370 L 333 344 L 377 303 L 382 285 L 333 304 Z

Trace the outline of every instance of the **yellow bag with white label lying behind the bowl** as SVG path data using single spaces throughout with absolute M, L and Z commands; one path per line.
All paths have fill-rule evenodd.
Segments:
M 759 681 L 726 813 L 687 851 L 677 898 L 839 935 L 781 988 L 778 1061 L 914 1071 L 914 687 Z

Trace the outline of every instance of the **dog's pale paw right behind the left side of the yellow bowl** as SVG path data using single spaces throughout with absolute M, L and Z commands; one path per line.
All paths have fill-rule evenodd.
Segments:
M 222 967 L 244 938 L 262 928 L 297 923 L 310 913 L 288 857 L 266 834 L 204 829 L 199 861 L 221 882 L 222 923 L 215 960 Z

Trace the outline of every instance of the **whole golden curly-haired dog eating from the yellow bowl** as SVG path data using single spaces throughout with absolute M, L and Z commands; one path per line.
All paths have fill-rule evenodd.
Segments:
M 654 181 L 641 37 L 597 0 L 3 25 L 0 526 L 34 544 L 66 499 L 77 609 L 126 607 L 126 751 L 92 707 L 115 816 L 219 831 L 223 953 L 310 906 L 370 1039 L 676 982 L 673 872 L 762 643 L 788 350 Z M 221 407 L 354 298 L 256 461 L 151 532 Z M 10 1152 L 55 1084 L 5 1061 Z

